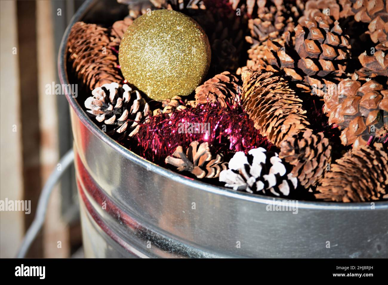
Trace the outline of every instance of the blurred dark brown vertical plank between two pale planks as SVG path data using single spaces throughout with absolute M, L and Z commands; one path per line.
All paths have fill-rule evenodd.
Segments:
M 31 200 L 31 214 L 24 226 L 31 225 L 42 187 L 40 173 L 40 130 L 38 105 L 38 65 L 36 46 L 36 2 L 17 1 L 17 38 L 21 99 L 21 136 L 23 143 L 24 200 Z M 47 106 L 50 108 L 50 106 Z M 42 235 L 31 245 L 28 257 L 43 257 Z

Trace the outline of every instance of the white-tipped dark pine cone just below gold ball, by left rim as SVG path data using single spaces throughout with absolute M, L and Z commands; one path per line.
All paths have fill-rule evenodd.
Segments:
M 87 112 L 95 116 L 98 125 L 106 125 L 106 133 L 123 138 L 133 136 L 140 128 L 139 123 L 151 116 L 149 105 L 139 91 L 124 84 L 104 84 L 92 91 L 93 97 L 85 100 Z

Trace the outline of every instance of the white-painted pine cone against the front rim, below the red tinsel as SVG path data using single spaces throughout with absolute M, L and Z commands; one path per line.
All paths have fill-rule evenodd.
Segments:
M 225 187 L 274 196 L 289 196 L 298 185 L 297 178 L 287 173 L 284 163 L 275 152 L 262 147 L 251 149 L 248 155 L 236 152 L 220 173 Z

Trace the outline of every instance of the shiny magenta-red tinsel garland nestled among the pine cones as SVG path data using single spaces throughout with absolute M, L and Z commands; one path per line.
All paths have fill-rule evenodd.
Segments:
M 192 128 L 191 124 L 194 125 Z M 203 131 L 203 127 L 209 126 Z M 136 149 L 133 149 L 133 141 L 126 147 L 156 163 L 163 163 L 165 157 L 179 145 L 187 148 L 194 140 L 209 142 L 216 152 L 223 154 L 248 152 L 257 147 L 270 149 L 273 146 L 260 135 L 248 114 L 239 107 L 222 109 L 218 104 L 204 104 L 153 116 L 148 123 L 142 124 L 133 138 L 137 141 Z

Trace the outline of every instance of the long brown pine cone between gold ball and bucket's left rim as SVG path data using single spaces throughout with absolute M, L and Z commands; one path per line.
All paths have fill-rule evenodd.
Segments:
M 118 58 L 110 45 L 111 40 L 105 28 L 84 22 L 76 22 L 71 28 L 69 60 L 73 62 L 73 72 L 90 90 L 123 80 Z

